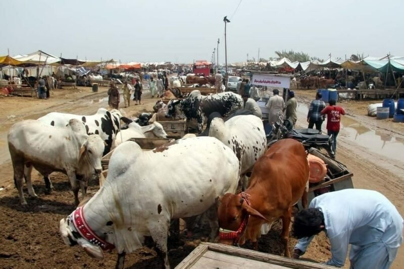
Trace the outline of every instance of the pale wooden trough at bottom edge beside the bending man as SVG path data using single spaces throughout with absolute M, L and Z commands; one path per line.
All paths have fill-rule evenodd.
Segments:
M 331 269 L 321 263 L 296 260 L 223 244 L 201 243 L 175 269 Z

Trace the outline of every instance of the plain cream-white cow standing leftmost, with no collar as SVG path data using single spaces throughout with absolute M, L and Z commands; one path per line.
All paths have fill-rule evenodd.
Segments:
M 87 181 L 102 171 L 101 158 L 105 142 L 99 135 L 87 135 L 79 120 L 72 119 L 63 128 L 25 120 L 10 128 L 7 139 L 14 183 L 23 205 L 27 204 L 22 191 L 23 178 L 27 182 L 29 195 L 36 197 L 31 183 L 33 167 L 44 177 L 48 193 L 52 189 L 49 174 L 65 173 L 69 177 L 76 205 L 79 203 L 77 181 L 80 180 L 81 195 L 84 198 Z

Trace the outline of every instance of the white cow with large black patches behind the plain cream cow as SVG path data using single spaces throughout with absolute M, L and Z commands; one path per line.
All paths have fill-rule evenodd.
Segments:
M 106 109 L 98 109 L 97 113 L 90 116 L 51 112 L 40 117 L 38 121 L 56 127 L 65 127 L 70 119 L 82 121 L 88 135 L 97 134 L 106 142 L 105 155 L 110 152 L 115 142 L 116 134 L 121 128 L 121 118 L 122 114 L 119 110 L 109 112 Z

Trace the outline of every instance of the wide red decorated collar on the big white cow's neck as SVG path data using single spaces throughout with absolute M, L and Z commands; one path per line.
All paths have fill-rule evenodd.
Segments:
M 88 226 L 84 219 L 83 207 L 80 206 L 73 211 L 73 224 L 80 235 L 85 238 L 91 244 L 97 245 L 103 250 L 112 250 L 115 248 L 113 244 L 110 244 L 103 239 L 99 238 Z

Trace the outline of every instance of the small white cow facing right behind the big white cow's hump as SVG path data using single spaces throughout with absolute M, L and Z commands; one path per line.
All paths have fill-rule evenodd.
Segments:
M 164 131 L 163 126 L 154 122 L 153 124 L 147 126 L 140 126 L 135 122 L 128 125 L 128 129 L 121 130 L 117 134 L 117 139 L 115 140 L 115 147 L 122 144 L 131 138 L 166 138 L 167 133 Z

